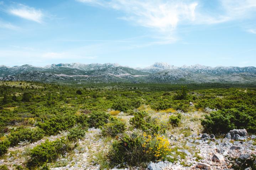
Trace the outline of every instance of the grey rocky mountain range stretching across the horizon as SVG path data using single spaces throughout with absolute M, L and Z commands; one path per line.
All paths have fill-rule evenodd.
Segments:
M 175 67 L 157 62 L 146 68 L 112 63 L 70 63 L 35 67 L 0 66 L 0 80 L 40 81 L 59 84 L 84 83 L 237 83 L 255 84 L 256 67 L 208 67 L 199 64 Z

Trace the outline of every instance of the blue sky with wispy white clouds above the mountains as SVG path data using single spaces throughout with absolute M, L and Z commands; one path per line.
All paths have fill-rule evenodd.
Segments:
M 0 0 L 0 65 L 256 66 L 256 0 Z

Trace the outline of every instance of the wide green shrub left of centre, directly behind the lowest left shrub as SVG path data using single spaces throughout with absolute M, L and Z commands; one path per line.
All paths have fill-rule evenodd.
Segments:
M 76 123 L 76 118 L 72 114 L 58 114 L 55 117 L 39 122 L 37 126 L 42 128 L 47 135 L 56 135 L 59 131 L 72 128 Z

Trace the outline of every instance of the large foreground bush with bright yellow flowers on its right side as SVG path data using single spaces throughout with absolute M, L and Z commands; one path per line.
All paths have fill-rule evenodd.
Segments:
M 111 165 L 127 163 L 145 167 L 150 161 L 168 160 L 171 145 L 163 136 L 132 134 L 112 143 L 108 157 Z

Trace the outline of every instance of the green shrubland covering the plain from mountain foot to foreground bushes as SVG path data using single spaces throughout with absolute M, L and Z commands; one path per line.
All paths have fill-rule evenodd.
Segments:
M 70 153 L 88 128 L 101 129 L 104 138 L 113 141 L 109 153 L 95 157 L 102 167 L 124 162 L 145 167 L 150 161 L 169 160 L 166 155 L 178 152 L 167 147 L 166 131 L 179 129 L 184 136 L 191 133 L 182 128 L 181 120 L 186 119 L 182 111 L 204 114 L 191 121 L 201 121 L 208 133 L 224 134 L 233 128 L 256 132 L 256 90 L 229 85 L 70 87 L 2 81 L 0 103 L 0 157 L 9 147 L 66 134 L 28 151 L 28 168 L 49 168 L 45 163 Z M 166 148 L 159 148 L 160 143 Z

